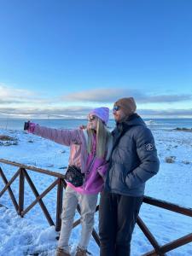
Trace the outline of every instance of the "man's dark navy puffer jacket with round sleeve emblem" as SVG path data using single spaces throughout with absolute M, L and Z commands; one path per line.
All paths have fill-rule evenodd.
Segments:
M 142 196 L 145 182 L 159 171 L 154 137 L 134 113 L 113 130 L 113 151 L 105 190 L 120 195 Z

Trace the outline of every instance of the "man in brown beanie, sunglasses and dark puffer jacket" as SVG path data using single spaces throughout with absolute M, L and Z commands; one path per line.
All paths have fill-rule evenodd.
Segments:
M 129 256 L 145 182 L 159 171 L 154 137 L 132 97 L 114 103 L 113 150 L 101 195 L 101 256 Z

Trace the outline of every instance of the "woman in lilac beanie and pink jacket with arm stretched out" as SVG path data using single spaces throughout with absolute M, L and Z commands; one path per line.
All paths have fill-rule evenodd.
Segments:
M 61 214 L 61 234 L 56 256 L 69 256 L 68 244 L 73 229 L 76 207 L 81 210 L 81 236 L 75 256 L 86 256 L 94 226 L 94 213 L 98 193 L 108 168 L 112 137 L 107 130 L 108 108 L 95 108 L 88 115 L 86 130 L 56 130 L 30 123 L 29 132 L 70 147 L 69 166 L 76 166 L 84 173 L 84 183 L 74 187 L 67 183 Z

